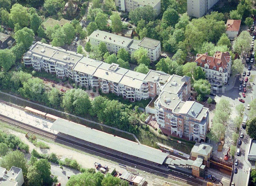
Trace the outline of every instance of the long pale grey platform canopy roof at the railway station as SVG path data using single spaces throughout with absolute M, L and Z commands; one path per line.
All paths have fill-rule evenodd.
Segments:
M 58 118 L 52 124 L 51 129 L 158 164 L 163 164 L 168 155 L 158 149 L 113 136 L 99 130 L 91 129 L 62 118 Z

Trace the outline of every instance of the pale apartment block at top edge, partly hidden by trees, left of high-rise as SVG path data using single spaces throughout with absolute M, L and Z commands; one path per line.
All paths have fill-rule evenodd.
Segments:
M 115 0 L 115 6 L 119 7 L 121 11 L 130 12 L 137 7 L 150 5 L 156 10 L 156 14 L 160 14 L 161 0 Z

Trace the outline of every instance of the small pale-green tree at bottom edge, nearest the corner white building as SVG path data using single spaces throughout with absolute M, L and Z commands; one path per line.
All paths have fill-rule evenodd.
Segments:
M 43 183 L 40 172 L 34 166 L 28 168 L 27 180 L 29 186 L 41 186 Z

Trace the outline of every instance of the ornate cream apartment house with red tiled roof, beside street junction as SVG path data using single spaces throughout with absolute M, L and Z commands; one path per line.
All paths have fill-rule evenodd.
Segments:
M 227 84 L 232 64 L 229 52 L 216 51 L 213 57 L 208 56 L 207 52 L 197 54 L 195 62 L 205 72 L 206 78 L 211 84 Z

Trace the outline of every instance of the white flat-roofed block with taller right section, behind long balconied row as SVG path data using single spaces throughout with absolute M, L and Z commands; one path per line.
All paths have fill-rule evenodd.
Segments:
M 140 47 L 146 49 L 147 56 L 151 61 L 156 61 L 161 55 L 160 41 L 144 37 L 142 41 L 130 39 L 120 35 L 95 30 L 90 36 L 90 43 L 92 46 L 97 46 L 100 42 L 106 44 L 110 53 L 117 54 L 118 50 L 124 48 L 130 54 L 138 50 Z

